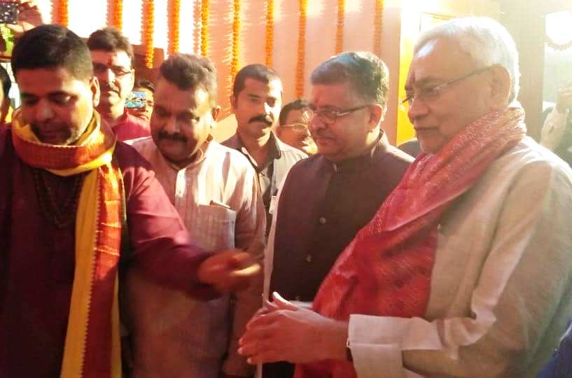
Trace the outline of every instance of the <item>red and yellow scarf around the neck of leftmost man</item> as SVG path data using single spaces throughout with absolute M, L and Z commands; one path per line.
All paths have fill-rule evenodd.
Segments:
M 123 176 L 112 159 L 116 137 L 99 114 L 73 146 L 43 144 L 12 122 L 18 156 L 59 176 L 87 172 L 76 214 L 76 268 L 61 377 L 121 377 L 118 261 Z

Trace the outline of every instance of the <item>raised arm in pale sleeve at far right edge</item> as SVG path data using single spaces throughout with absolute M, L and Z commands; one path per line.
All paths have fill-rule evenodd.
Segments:
M 542 127 L 540 144 L 572 165 L 572 83 L 558 91 L 556 106 Z

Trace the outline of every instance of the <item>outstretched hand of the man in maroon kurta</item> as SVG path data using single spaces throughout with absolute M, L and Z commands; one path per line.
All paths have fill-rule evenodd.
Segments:
M 197 276 L 202 283 L 208 283 L 225 293 L 244 290 L 260 271 L 260 264 L 250 253 L 232 249 L 216 253 L 204 260 Z

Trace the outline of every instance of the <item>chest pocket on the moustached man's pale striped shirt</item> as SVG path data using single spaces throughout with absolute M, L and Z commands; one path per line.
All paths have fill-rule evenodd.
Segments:
M 192 230 L 193 239 L 208 251 L 235 248 L 237 212 L 221 206 L 199 205 Z

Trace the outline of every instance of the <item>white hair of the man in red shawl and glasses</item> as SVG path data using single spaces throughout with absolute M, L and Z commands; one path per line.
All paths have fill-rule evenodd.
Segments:
M 415 44 L 414 54 L 436 38 L 456 41 L 459 48 L 467 52 L 477 64 L 503 66 L 510 73 L 512 84 L 508 102 L 517 98 L 520 89 L 518 51 L 514 39 L 503 25 L 487 17 L 455 18 L 421 34 Z

